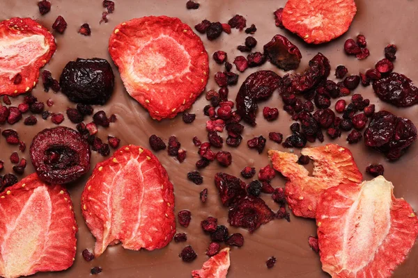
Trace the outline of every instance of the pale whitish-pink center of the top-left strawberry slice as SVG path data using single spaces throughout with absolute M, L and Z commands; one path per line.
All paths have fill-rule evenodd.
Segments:
M 9 79 L 49 51 L 43 35 L 0 40 L 0 72 Z

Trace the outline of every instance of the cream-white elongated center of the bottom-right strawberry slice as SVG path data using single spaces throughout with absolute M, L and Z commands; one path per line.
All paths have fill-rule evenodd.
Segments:
M 363 184 L 344 227 L 343 265 L 353 272 L 373 260 L 389 233 L 391 221 L 392 183 L 374 179 Z

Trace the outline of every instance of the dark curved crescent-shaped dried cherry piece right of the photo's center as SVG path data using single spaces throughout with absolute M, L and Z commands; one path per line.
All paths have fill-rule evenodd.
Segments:
M 257 102 L 271 97 L 281 77 L 270 70 L 250 74 L 242 83 L 235 99 L 238 114 L 245 122 L 256 125 Z

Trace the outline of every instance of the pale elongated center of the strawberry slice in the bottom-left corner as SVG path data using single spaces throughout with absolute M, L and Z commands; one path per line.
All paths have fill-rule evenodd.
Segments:
M 16 202 L 20 201 L 16 200 Z M 47 188 L 40 186 L 33 190 L 16 220 L 8 225 L 7 234 L 1 245 L 1 254 L 6 262 L 4 265 L 6 277 L 18 277 L 22 273 L 30 273 L 33 265 L 42 259 L 51 224 L 51 213 L 52 204 Z

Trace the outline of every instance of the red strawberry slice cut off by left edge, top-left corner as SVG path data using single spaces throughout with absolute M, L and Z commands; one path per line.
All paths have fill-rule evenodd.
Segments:
M 0 22 L 0 95 L 20 95 L 38 82 L 56 49 L 54 36 L 30 18 Z

